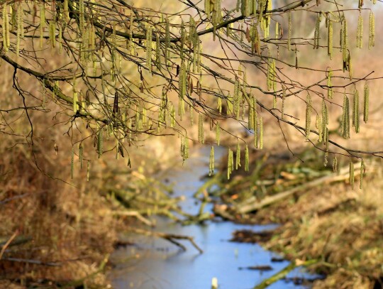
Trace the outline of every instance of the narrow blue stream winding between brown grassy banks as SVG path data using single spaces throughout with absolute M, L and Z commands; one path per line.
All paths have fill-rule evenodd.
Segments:
M 163 180 L 174 182 L 174 196 L 184 195 L 187 200 L 181 203 L 182 209 L 189 213 L 198 212 L 199 204 L 192 195 L 203 185 L 201 175 L 209 172 L 209 150 L 201 148 L 194 151 L 183 167 L 172 168 Z M 216 148 L 216 162 L 223 150 Z M 206 206 L 209 211 L 211 207 Z M 216 277 L 220 289 L 250 289 L 282 270 L 289 261 L 272 262 L 276 256 L 257 244 L 238 244 L 228 241 L 236 229 L 262 231 L 276 225 L 239 225 L 232 222 L 208 222 L 206 225 L 182 226 L 169 219 L 157 217 L 155 231 L 193 236 L 204 253 L 200 254 L 187 241 L 187 251 L 155 237 L 130 236 L 134 246 L 117 249 L 111 256 L 117 265 L 109 278 L 113 288 L 125 289 L 210 289 L 211 279 Z M 253 271 L 248 266 L 271 266 L 270 271 Z M 313 278 L 297 268 L 289 278 Z M 308 288 L 292 282 L 279 280 L 268 288 Z

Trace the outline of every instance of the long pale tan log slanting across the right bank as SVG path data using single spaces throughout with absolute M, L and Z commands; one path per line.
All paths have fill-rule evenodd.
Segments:
M 355 175 L 360 175 L 360 164 L 355 165 Z M 296 192 L 309 192 L 309 189 L 317 187 L 318 185 L 329 184 L 331 182 L 339 182 L 341 180 L 347 180 L 349 178 L 349 168 L 342 168 L 338 175 L 326 175 L 311 182 L 306 182 L 303 185 L 293 187 L 285 192 L 280 192 L 277 195 L 265 197 L 260 201 L 246 202 L 245 204 L 239 204 L 235 206 L 235 212 L 239 214 L 246 214 L 248 212 L 262 209 L 263 207 L 270 206 L 276 202 L 286 199 L 289 196 L 294 195 Z

